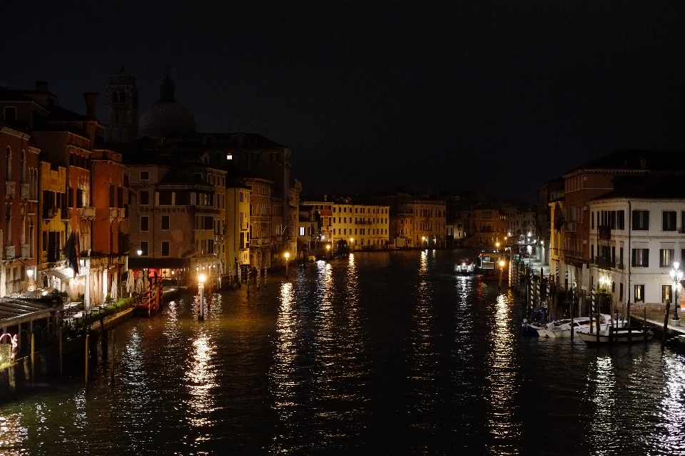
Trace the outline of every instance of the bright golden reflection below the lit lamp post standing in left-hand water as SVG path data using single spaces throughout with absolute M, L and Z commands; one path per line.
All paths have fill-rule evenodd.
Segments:
M 215 354 L 214 342 L 207 329 L 201 328 L 201 333 L 193 341 L 191 363 L 186 371 L 191 393 L 186 407 L 191 411 L 188 420 L 193 426 L 210 424 L 208 414 L 214 409 L 212 388 L 216 388 L 216 370 L 212 363 Z

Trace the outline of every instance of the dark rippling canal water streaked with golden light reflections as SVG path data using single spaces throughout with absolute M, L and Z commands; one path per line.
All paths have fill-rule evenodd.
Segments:
M 685 358 L 521 338 L 464 252 L 357 253 L 115 330 L 96 378 L 0 406 L 7 455 L 685 455 Z

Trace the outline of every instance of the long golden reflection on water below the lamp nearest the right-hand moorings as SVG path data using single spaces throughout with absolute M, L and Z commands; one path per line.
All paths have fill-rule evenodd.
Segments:
M 520 430 L 514 421 L 514 395 L 516 393 L 516 369 L 514 366 L 514 336 L 509 328 L 511 303 L 503 294 L 497 296 L 492 341 L 489 351 L 488 375 L 489 418 L 488 426 L 497 455 L 517 455 L 519 451 L 512 444 Z

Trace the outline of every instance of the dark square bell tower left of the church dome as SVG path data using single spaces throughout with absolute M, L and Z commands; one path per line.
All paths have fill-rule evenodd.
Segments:
M 138 89 L 136 78 L 121 67 L 107 86 L 106 142 L 133 142 L 138 138 Z

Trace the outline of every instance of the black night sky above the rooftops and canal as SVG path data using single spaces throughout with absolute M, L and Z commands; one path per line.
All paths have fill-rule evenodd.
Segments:
M 46 80 L 84 113 L 123 65 L 144 113 L 169 66 L 199 130 L 288 145 L 305 192 L 532 201 L 612 150 L 685 150 L 683 1 L 0 0 L 0 19 L 0 85 Z

